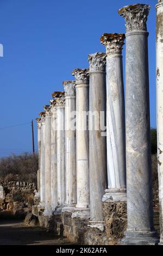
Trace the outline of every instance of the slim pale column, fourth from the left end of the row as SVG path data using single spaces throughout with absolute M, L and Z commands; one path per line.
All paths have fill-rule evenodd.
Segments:
M 55 99 L 51 102 L 51 207 L 52 212 L 58 205 L 57 195 L 57 111 Z

